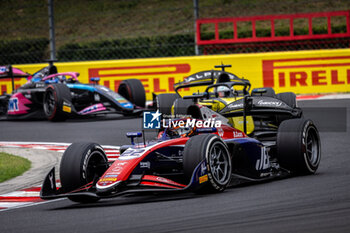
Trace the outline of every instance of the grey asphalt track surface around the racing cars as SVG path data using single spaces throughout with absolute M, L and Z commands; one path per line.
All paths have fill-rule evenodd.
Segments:
M 304 101 L 321 129 L 318 172 L 220 194 L 62 199 L 0 212 L 0 232 L 350 232 L 350 100 Z M 0 122 L 1 141 L 128 143 L 140 118 Z

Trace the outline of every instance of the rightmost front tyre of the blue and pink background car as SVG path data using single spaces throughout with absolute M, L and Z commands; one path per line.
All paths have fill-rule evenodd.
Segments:
M 146 92 L 138 79 L 123 80 L 118 88 L 118 93 L 136 106 L 146 106 Z

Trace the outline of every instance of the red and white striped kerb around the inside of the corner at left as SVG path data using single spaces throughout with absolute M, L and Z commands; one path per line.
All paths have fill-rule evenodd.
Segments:
M 69 143 L 0 142 L 0 147 L 42 149 L 58 152 L 64 152 L 69 145 Z M 102 147 L 109 162 L 113 162 L 119 157 L 118 146 L 103 145 Z M 61 186 L 59 180 L 56 181 L 56 186 Z M 46 202 L 40 198 L 40 190 L 41 186 L 35 186 L 0 195 L 0 211 Z

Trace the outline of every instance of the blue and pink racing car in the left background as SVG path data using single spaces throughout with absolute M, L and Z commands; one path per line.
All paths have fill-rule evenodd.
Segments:
M 123 80 L 118 93 L 98 85 L 78 81 L 79 73 L 58 73 L 54 65 L 33 75 L 11 66 L 0 67 L 0 80 L 27 78 L 12 94 L 0 96 L 1 119 L 48 119 L 64 121 L 71 117 L 118 113 L 138 115 L 145 108 L 145 90 L 140 80 Z

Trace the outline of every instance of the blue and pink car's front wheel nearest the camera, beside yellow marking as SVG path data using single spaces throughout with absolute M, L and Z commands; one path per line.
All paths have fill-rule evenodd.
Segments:
M 72 111 L 72 96 L 69 88 L 62 84 L 49 85 L 44 93 L 43 108 L 50 121 L 65 121 Z

